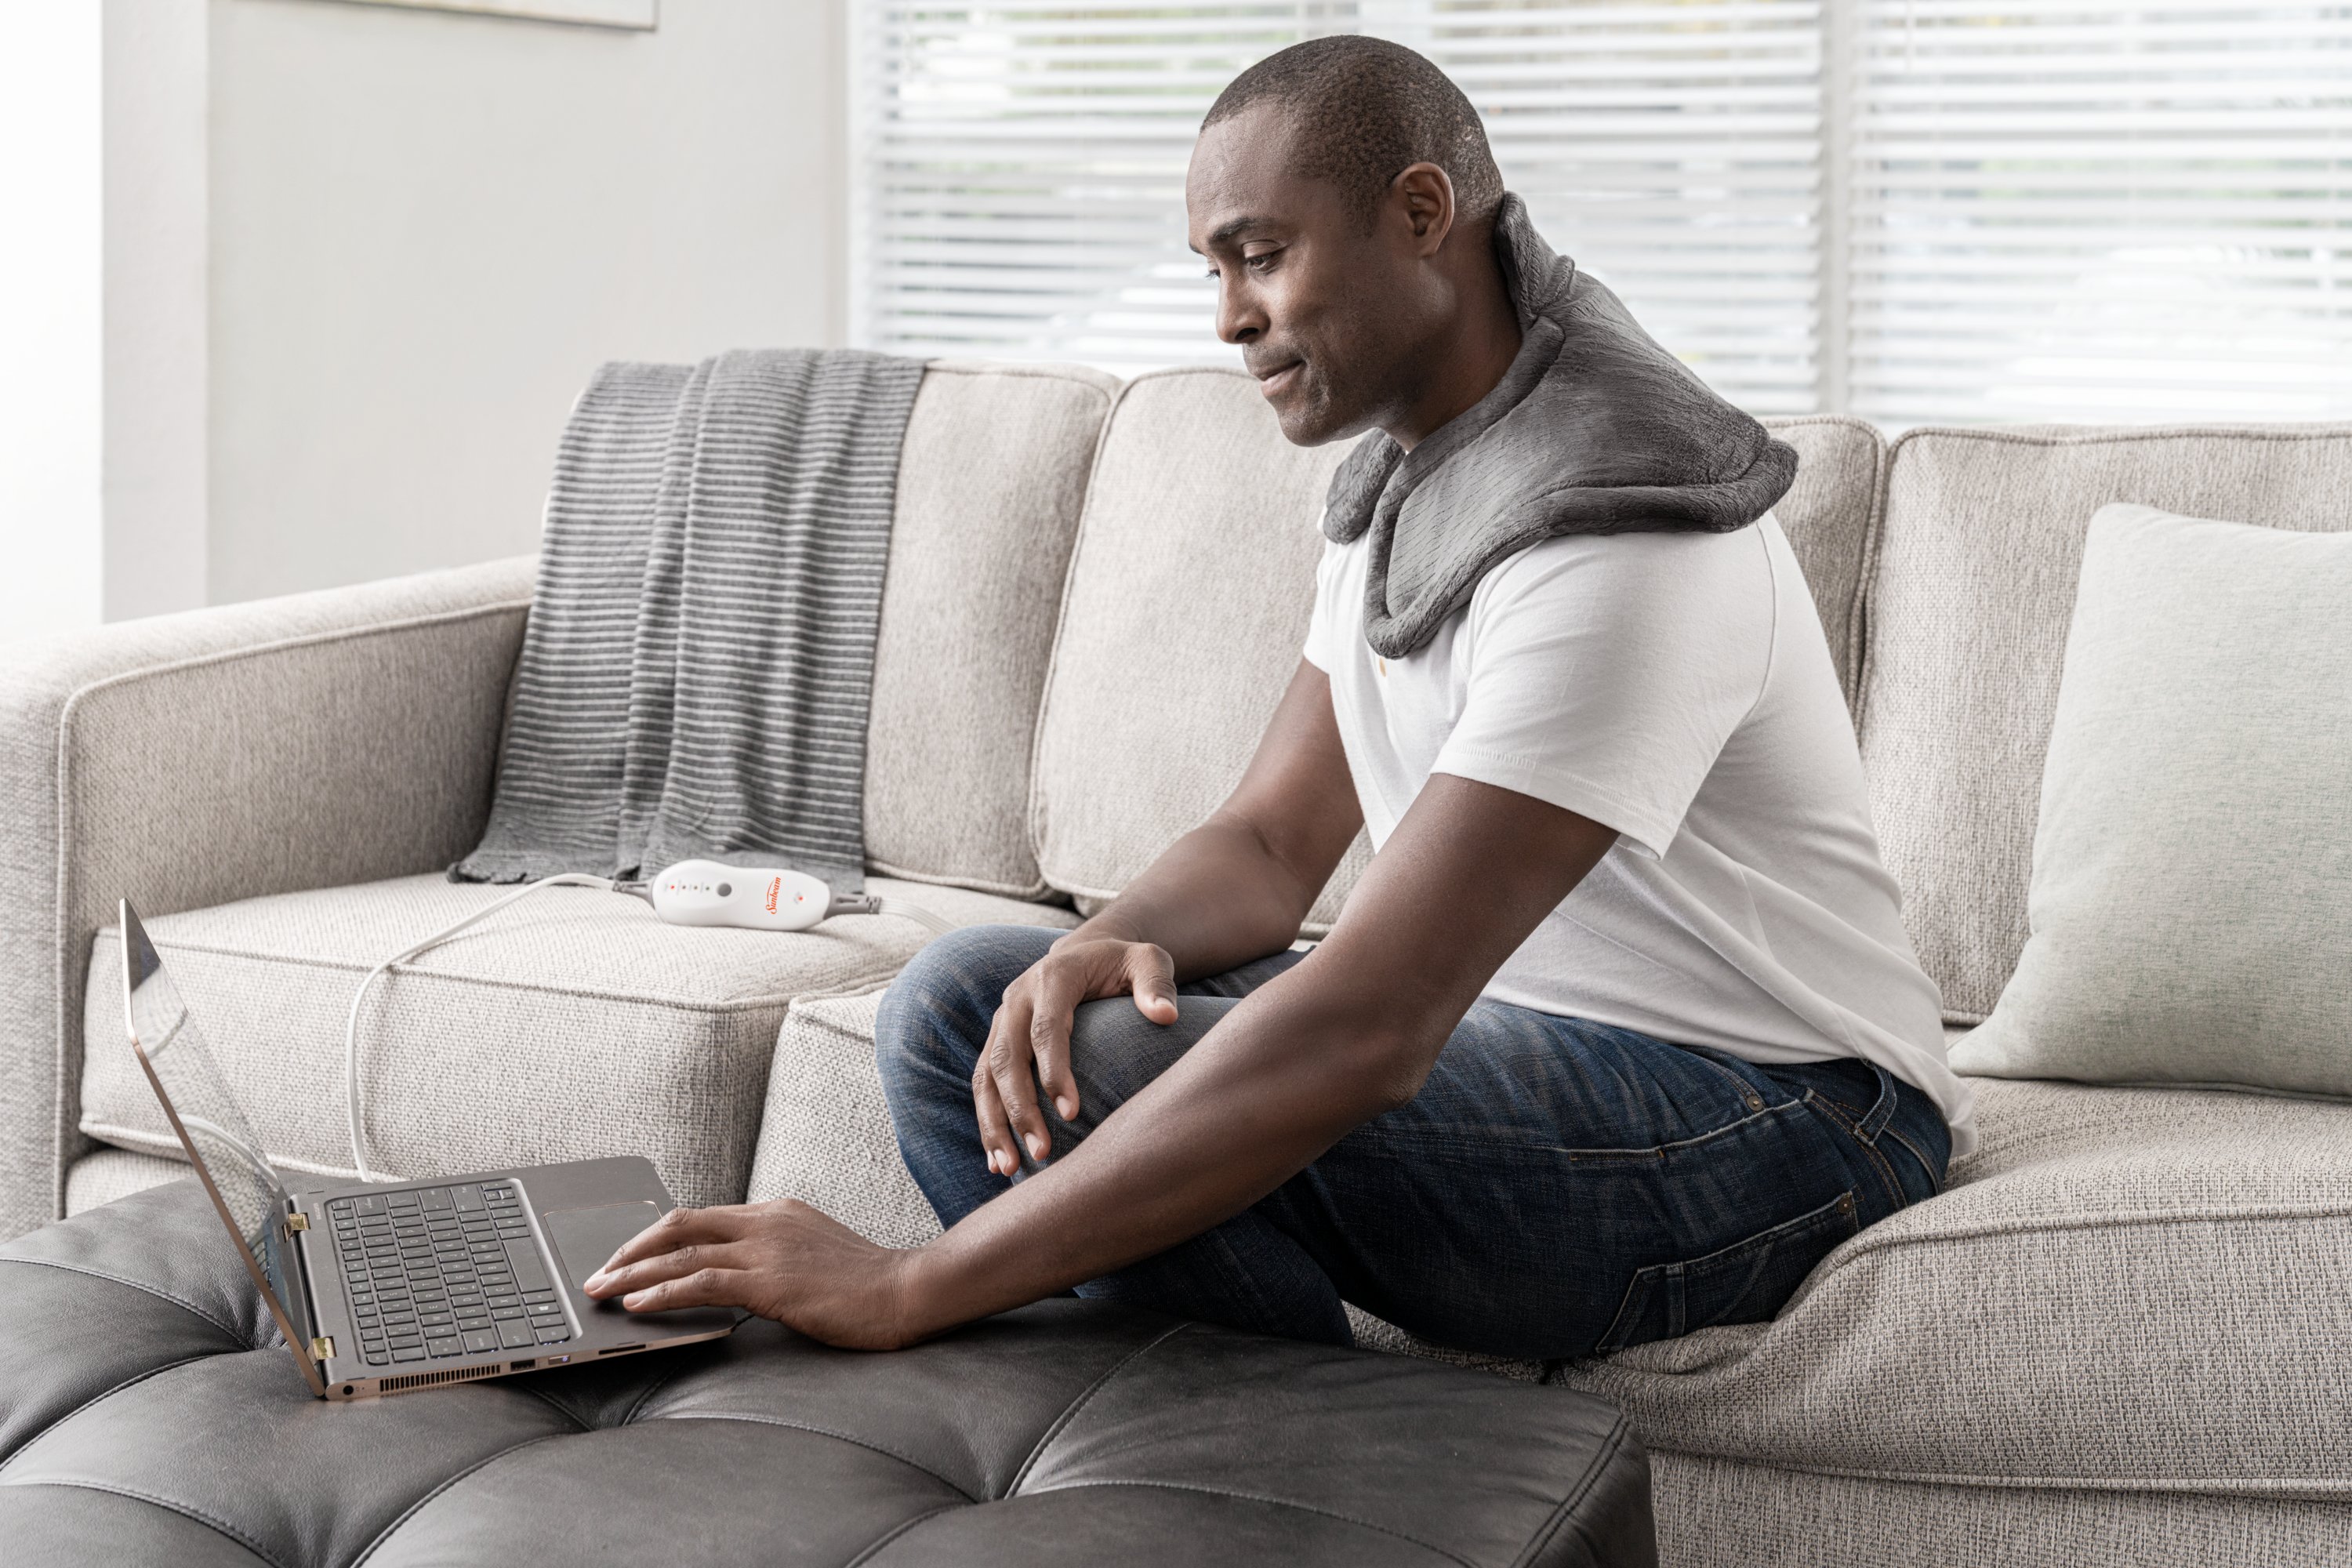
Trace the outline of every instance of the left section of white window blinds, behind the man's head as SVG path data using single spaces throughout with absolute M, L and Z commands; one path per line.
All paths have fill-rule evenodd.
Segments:
M 1247 63 L 1367 31 L 1444 66 L 1538 228 L 1757 409 L 1816 407 L 1816 0 L 863 9 L 858 341 L 1235 362 L 1183 242 L 1200 118 Z

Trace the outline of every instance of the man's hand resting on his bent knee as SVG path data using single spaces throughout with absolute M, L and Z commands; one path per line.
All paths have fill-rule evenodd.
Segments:
M 1054 1150 L 1040 1088 L 1063 1121 L 1077 1117 L 1070 1018 L 1082 1001 L 1103 997 L 1134 997 L 1152 1023 L 1176 1023 L 1176 964 L 1155 943 L 1075 933 L 1004 987 L 988 1048 L 971 1070 L 971 1110 L 997 1175 L 1021 1171 L 1023 1147 L 1037 1164 Z

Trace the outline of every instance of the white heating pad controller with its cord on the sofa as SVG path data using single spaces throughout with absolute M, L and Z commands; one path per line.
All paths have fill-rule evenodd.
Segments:
M 614 882 L 609 877 L 588 877 L 583 872 L 541 877 L 539 882 L 520 886 L 496 903 L 482 905 L 454 926 L 435 931 L 414 947 L 405 947 L 402 952 L 383 959 L 367 971 L 367 978 L 360 980 L 360 990 L 350 994 L 350 1016 L 343 1018 L 343 1117 L 350 1128 L 350 1168 L 360 1173 L 362 1182 L 379 1180 L 367 1166 L 367 1114 L 360 1095 L 360 1004 L 367 1001 L 367 990 L 395 966 L 407 964 L 416 954 L 447 943 L 459 931 L 477 926 L 499 910 L 550 886 L 633 893 L 654 905 L 654 914 L 670 926 L 807 931 L 809 926 L 833 919 L 835 914 L 896 914 L 934 931 L 936 936 L 955 931 L 953 922 L 896 898 L 873 898 L 868 893 L 837 898 L 823 882 L 802 872 L 734 867 L 715 860 L 680 860 L 652 882 Z

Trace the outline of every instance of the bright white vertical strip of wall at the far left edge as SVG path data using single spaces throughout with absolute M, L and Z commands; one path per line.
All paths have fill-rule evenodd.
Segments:
M 0 639 L 99 618 L 96 5 L 9 7 L 0 47 Z

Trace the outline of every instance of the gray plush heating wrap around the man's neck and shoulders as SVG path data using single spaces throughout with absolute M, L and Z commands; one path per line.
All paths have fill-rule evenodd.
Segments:
M 1762 517 L 1797 454 L 1717 397 L 1505 195 L 1494 249 L 1519 355 L 1411 451 L 1374 430 L 1331 475 L 1324 534 L 1371 531 L 1364 642 L 1404 658 L 1486 569 L 1555 534 L 1724 534 Z

